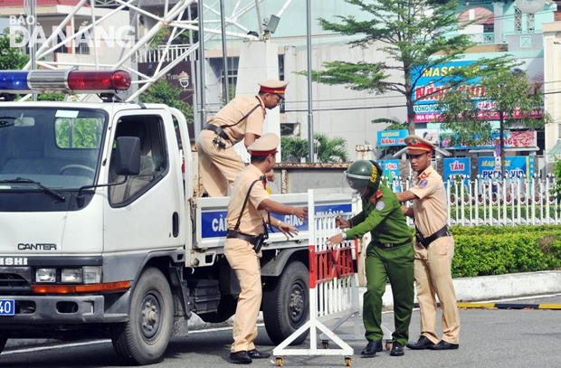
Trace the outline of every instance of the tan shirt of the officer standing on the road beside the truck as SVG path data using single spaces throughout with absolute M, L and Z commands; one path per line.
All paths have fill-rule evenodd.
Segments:
M 264 231 L 262 216 L 267 212 L 259 211 L 257 208 L 262 200 L 269 198 L 269 193 L 265 190 L 261 182 L 262 175 L 264 174 L 261 173 L 260 169 L 250 164 L 245 167 L 236 178 L 233 184 L 232 196 L 228 203 L 228 214 L 226 215 L 228 229 L 233 230 L 235 227 L 250 186 L 255 180 L 259 180 L 257 183 L 253 184 L 252 193 L 243 209 L 242 221 L 240 222 L 238 231 L 247 235 L 259 235 Z

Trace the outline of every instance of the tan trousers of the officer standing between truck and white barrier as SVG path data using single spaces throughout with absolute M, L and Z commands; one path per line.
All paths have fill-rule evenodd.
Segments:
M 240 281 L 240 296 L 233 320 L 233 344 L 237 353 L 255 349 L 257 317 L 261 307 L 261 266 L 253 245 L 241 239 L 226 239 L 224 256 Z

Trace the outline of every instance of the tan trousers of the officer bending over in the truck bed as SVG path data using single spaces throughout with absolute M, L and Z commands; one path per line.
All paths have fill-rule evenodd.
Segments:
M 218 148 L 213 140 L 218 137 L 212 130 L 202 130 L 199 135 L 198 154 L 201 167 L 203 186 L 211 197 L 225 197 L 228 195 L 228 186 L 233 188 L 233 182 L 245 168 L 242 157 L 238 155 L 229 141 L 226 148 Z M 222 138 L 220 138 L 222 139 Z

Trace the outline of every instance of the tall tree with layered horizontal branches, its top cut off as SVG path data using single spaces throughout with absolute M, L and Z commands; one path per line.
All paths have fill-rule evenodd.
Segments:
M 384 52 L 386 61 L 331 61 L 323 64 L 325 71 L 314 71 L 313 79 L 325 84 L 343 84 L 351 90 L 367 90 L 376 94 L 388 91 L 404 95 L 407 106 L 407 123 L 410 134 L 414 134 L 414 90 L 423 71 L 437 65 L 461 59 L 462 54 L 474 46 L 467 34 L 458 30 L 471 23 L 458 24 L 458 1 L 435 0 L 345 0 L 357 5 L 367 16 L 358 21 L 354 16 L 338 16 L 342 23 L 328 22 L 320 18 L 324 30 L 359 36 L 349 42 L 352 47 L 367 47 L 374 42 L 385 43 L 377 49 Z M 456 35 L 452 35 L 456 34 Z M 498 61 L 501 58 L 497 59 Z M 474 73 L 484 75 L 492 72 L 490 60 L 480 59 L 469 68 L 455 69 L 446 75 L 435 77 L 433 83 L 452 80 L 454 84 L 470 80 Z M 486 65 L 486 68 L 482 68 Z M 403 79 L 390 80 L 390 76 L 401 73 Z M 300 72 L 300 74 L 305 74 Z M 423 96 L 424 98 L 437 93 Z

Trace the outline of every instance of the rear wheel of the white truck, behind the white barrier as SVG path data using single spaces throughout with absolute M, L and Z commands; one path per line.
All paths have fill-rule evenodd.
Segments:
M 309 271 L 300 261 L 282 270 L 276 284 L 263 292 L 263 320 L 274 344 L 281 344 L 309 319 Z M 309 330 L 291 345 L 302 344 Z

